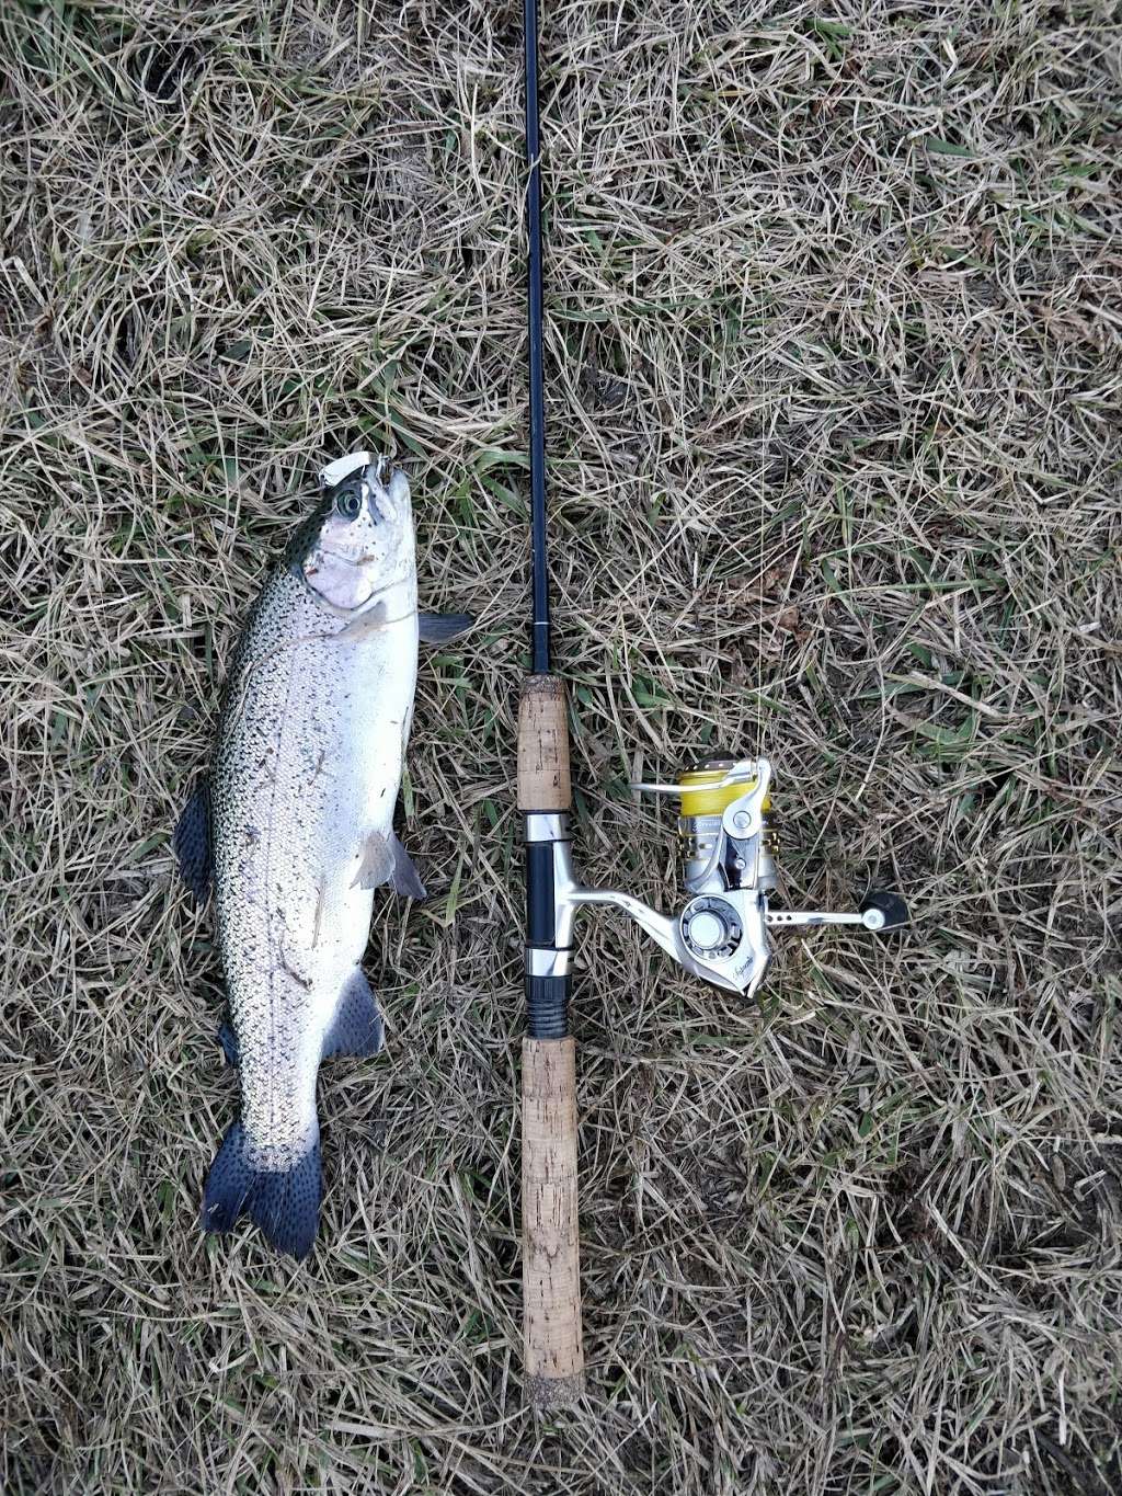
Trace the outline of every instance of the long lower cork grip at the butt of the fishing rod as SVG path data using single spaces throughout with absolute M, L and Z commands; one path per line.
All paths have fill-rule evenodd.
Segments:
M 525 1372 L 537 1408 L 585 1388 L 576 1188 L 576 1043 L 522 1041 Z

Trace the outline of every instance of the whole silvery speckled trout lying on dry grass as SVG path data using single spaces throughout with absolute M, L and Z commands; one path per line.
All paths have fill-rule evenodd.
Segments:
M 381 1049 L 359 965 L 374 889 L 425 895 L 393 833 L 417 640 L 470 624 L 417 613 L 404 473 L 361 452 L 320 483 L 238 643 L 212 770 L 174 836 L 194 896 L 214 889 L 230 1004 L 220 1040 L 241 1077 L 202 1224 L 229 1231 L 248 1213 L 295 1257 L 319 1225 L 320 1061 Z

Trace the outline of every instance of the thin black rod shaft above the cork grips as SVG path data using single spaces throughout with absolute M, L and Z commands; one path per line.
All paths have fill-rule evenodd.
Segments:
M 525 0 L 527 230 L 530 307 L 530 516 L 533 554 L 533 670 L 549 673 L 549 558 L 546 555 L 546 402 L 542 377 L 542 141 L 537 123 L 537 0 Z

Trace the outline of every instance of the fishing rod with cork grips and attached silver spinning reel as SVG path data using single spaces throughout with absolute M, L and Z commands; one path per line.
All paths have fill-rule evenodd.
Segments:
M 673 960 L 726 992 L 751 998 L 772 956 L 769 931 L 856 925 L 887 934 L 908 922 L 898 893 L 869 893 L 853 913 L 772 908 L 776 887 L 772 766 L 712 754 L 675 784 L 687 901 L 660 914 L 616 889 L 591 889 L 573 865 L 565 687 L 552 672 L 546 534 L 546 426 L 542 338 L 542 142 L 537 0 L 524 0 L 530 341 L 531 673 L 518 712 L 518 809 L 525 821 L 525 996 L 522 1041 L 522 1294 L 527 1391 L 542 1409 L 585 1387 L 577 1225 L 576 1041 L 570 1032 L 573 922 L 582 907 L 622 910 Z

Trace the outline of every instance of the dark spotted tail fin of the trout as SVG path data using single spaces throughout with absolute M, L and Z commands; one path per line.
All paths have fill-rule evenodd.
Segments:
M 250 1215 L 278 1252 L 307 1257 L 320 1219 L 320 1140 L 292 1168 L 257 1168 L 250 1162 L 245 1131 L 235 1122 L 206 1176 L 202 1197 L 205 1231 L 232 1231 Z

